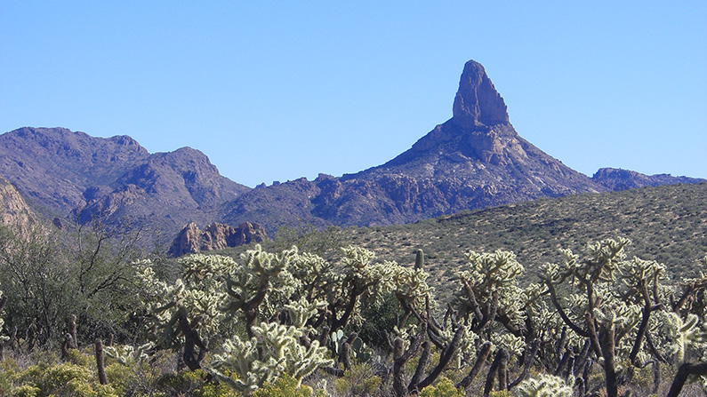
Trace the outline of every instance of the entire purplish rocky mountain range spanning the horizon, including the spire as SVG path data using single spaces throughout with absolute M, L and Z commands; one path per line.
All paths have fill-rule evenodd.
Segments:
M 0 175 L 45 214 L 115 225 L 149 222 L 174 235 L 189 222 L 277 227 L 410 223 L 540 197 L 704 179 L 600 169 L 592 178 L 523 139 L 484 67 L 464 65 L 453 116 L 389 162 L 255 188 L 221 176 L 197 149 L 149 154 L 129 136 L 63 128 L 0 135 Z M 70 215 L 69 215 L 70 214 Z

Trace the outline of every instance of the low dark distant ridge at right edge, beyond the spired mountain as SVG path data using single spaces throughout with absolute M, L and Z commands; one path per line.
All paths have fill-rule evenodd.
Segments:
M 658 187 L 663 185 L 676 185 L 679 183 L 704 183 L 707 179 L 673 177 L 671 174 L 646 175 L 636 171 L 616 168 L 601 168 L 591 177 L 597 183 L 619 191 L 638 187 Z

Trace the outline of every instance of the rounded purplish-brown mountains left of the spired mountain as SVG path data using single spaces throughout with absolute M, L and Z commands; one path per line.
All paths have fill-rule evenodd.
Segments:
M 36 210 L 168 235 L 189 221 L 212 222 L 224 202 L 249 190 L 222 177 L 198 150 L 150 155 L 127 136 L 21 128 L 0 135 L 0 159 L 0 175 Z

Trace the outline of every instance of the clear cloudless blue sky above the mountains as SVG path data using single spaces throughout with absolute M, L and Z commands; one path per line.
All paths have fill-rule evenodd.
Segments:
M 364 170 L 486 67 L 577 171 L 707 178 L 707 1 L 0 0 L 0 132 L 194 147 L 254 187 Z

